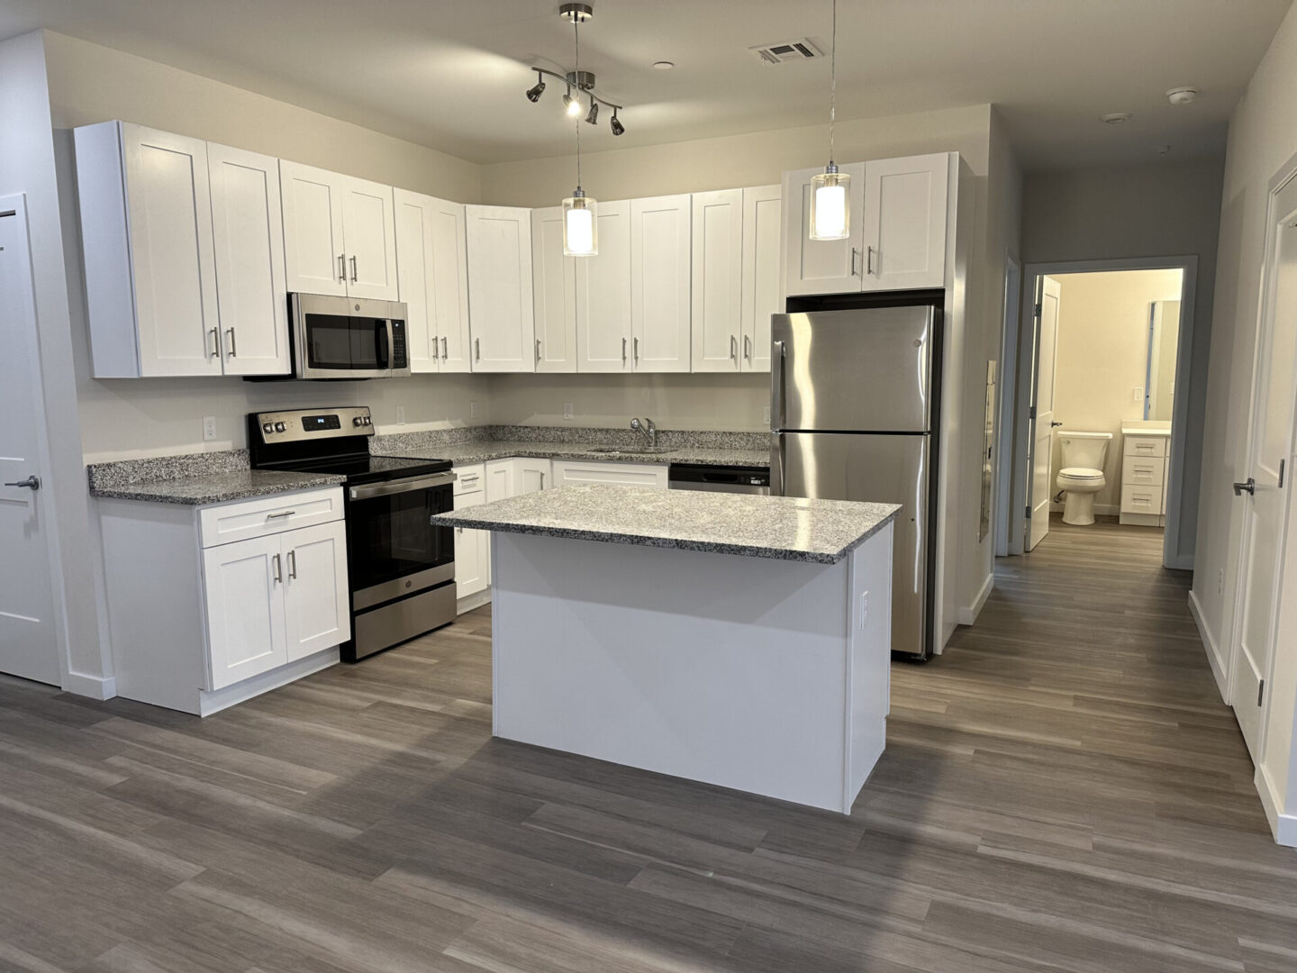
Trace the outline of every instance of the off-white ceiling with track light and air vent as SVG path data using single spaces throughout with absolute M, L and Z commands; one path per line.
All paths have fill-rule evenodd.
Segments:
M 839 0 L 838 117 L 992 102 L 1029 170 L 1215 154 L 1292 0 Z M 829 48 L 829 0 L 594 0 L 581 66 L 625 104 L 626 148 L 812 125 L 827 58 L 763 65 L 747 48 Z M 49 27 L 477 162 L 567 153 L 551 83 L 568 69 L 556 0 L 5 0 L 0 38 Z M 655 70 L 658 60 L 676 62 Z M 1163 92 L 1201 96 L 1174 108 Z M 1132 112 L 1122 126 L 1099 115 Z M 606 115 L 604 115 L 606 117 Z

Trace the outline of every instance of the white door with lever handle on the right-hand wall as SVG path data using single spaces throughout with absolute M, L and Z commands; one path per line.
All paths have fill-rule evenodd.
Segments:
M 1275 197 L 1274 237 L 1266 269 L 1266 305 L 1257 340 L 1246 475 L 1252 493 L 1236 490 L 1244 511 L 1240 611 L 1233 653 L 1232 704 L 1252 759 L 1261 759 L 1261 681 L 1270 669 L 1284 551 L 1284 492 L 1292 476 L 1293 388 L 1297 384 L 1297 179 Z

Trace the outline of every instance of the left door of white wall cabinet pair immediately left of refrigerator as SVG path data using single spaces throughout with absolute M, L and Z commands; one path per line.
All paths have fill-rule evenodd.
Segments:
M 739 371 L 743 191 L 694 193 L 693 370 Z

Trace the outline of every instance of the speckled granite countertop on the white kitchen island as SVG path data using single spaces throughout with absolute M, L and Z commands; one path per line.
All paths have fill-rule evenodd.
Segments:
M 432 523 L 837 564 L 899 510 L 895 503 L 580 484 L 440 514 Z

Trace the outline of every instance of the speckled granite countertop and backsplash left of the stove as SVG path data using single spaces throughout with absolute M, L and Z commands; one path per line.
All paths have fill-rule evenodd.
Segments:
M 342 483 L 341 476 L 249 470 L 248 450 L 123 459 L 86 467 L 92 497 L 149 503 L 227 503 Z

